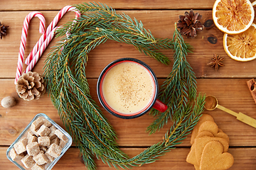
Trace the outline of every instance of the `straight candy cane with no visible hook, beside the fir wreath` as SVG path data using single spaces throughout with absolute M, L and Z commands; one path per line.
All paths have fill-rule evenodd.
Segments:
M 38 62 L 39 58 L 41 57 L 41 55 L 43 54 L 44 50 L 46 50 L 46 47 L 49 45 L 50 41 L 53 40 L 53 37 L 55 35 L 55 30 L 59 28 L 59 27 L 55 27 L 53 28 L 53 30 L 49 33 L 49 35 L 46 37 L 46 40 L 43 42 L 43 44 L 41 45 L 41 47 L 38 49 L 38 52 L 36 53 L 36 55 L 33 57 L 33 59 L 31 60 L 31 62 L 28 64 L 28 67 L 26 67 L 26 73 L 30 72 L 31 69 L 33 69 L 33 67 L 36 65 L 36 62 Z

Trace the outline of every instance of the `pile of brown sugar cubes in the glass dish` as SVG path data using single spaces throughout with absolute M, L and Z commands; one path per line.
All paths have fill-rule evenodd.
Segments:
M 16 162 L 21 161 L 27 169 L 43 170 L 60 156 L 67 142 L 68 137 L 46 118 L 39 117 L 31 124 L 27 137 L 19 140 L 10 150 L 10 157 Z

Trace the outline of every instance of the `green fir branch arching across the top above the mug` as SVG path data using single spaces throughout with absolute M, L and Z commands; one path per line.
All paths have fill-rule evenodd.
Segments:
M 81 9 L 81 6 L 82 5 L 79 5 L 77 8 L 80 11 L 85 11 Z M 129 18 L 129 16 L 124 13 L 117 14 L 114 9 L 110 10 L 108 7 L 104 8 L 102 7 L 103 5 L 90 4 L 90 6 L 93 10 L 86 11 L 96 12 L 96 14 L 88 13 L 86 15 L 85 13 L 75 23 L 66 24 L 64 28 L 59 29 L 57 35 L 65 35 L 70 28 L 72 35 L 70 35 L 69 38 L 81 36 L 81 31 L 84 35 L 87 34 L 88 31 L 98 30 L 97 34 L 103 34 L 110 40 L 134 45 L 140 52 L 143 52 L 164 64 L 169 64 L 169 58 L 159 52 L 159 50 L 174 48 L 170 39 L 158 40 L 154 38 L 154 36 L 151 35 L 150 30 L 143 28 L 142 22 L 137 21 L 135 18 L 132 20 L 132 18 Z M 99 11 L 95 10 L 95 8 Z M 102 9 L 102 11 L 100 11 L 100 9 Z M 95 34 L 93 35 L 95 36 Z

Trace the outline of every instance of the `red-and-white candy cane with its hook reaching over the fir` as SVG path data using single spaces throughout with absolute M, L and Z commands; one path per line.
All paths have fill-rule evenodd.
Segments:
M 41 47 L 41 45 L 43 44 L 44 40 L 46 40 L 46 38 L 48 37 L 48 35 L 51 33 L 51 31 L 53 30 L 53 28 L 55 28 L 55 26 L 57 26 L 58 21 L 60 21 L 60 19 L 65 15 L 65 13 L 67 13 L 68 11 L 73 11 L 75 12 L 75 19 L 80 17 L 80 12 L 78 11 L 77 8 L 73 7 L 73 6 L 65 6 L 64 8 L 62 8 L 58 14 L 55 16 L 55 18 L 53 19 L 53 21 L 50 23 L 50 25 L 48 26 L 48 28 L 46 29 L 46 33 L 44 33 L 43 35 L 41 35 L 41 38 L 38 40 L 38 42 L 36 42 L 36 45 L 33 47 L 33 50 L 31 51 L 31 53 L 28 55 L 28 57 L 26 58 L 25 63 L 29 64 L 31 62 L 31 60 L 33 60 L 33 57 L 36 55 L 36 53 L 38 52 L 38 49 Z M 74 20 L 75 22 L 75 20 Z M 67 34 L 68 35 L 68 34 Z M 43 52 L 41 52 L 42 54 Z

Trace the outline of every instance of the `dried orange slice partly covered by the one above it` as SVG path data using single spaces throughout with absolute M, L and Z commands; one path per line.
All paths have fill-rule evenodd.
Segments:
M 245 32 L 235 35 L 224 34 L 225 52 L 233 60 L 247 62 L 256 58 L 256 25 L 252 23 Z

